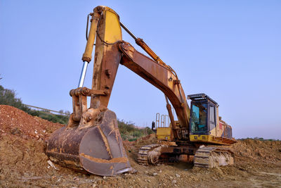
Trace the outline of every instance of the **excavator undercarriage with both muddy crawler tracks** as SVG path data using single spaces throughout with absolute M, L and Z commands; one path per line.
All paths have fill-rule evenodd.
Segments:
M 171 144 L 173 143 L 173 144 Z M 233 165 L 234 153 L 230 149 L 197 144 L 178 145 L 150 144 L 138 151 L 138 163 L 141 165 L 172 164 L 177 162 L 194 163 L 195 167 L 215 168 L 221 165 Z

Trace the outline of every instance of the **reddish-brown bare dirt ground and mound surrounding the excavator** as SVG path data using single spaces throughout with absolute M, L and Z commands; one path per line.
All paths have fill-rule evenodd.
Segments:
M 61 126 L 0 106 L 0 187 L 281 187 L 280 141 L 239 141 L 232 146 L 234 166 L 207 170 L 186 163 L 138 165 L 138 147 L 155 142 L 145 137 L 124 142 L 138 173 L 99 177 L 48 165 L 44 139 Z

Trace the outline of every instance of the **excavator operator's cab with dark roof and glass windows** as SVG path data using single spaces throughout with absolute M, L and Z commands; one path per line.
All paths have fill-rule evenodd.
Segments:
M 218 104 L 207 94 L 190 94 L 190 134 L 209 135 L 216 127 L 216 108 Z

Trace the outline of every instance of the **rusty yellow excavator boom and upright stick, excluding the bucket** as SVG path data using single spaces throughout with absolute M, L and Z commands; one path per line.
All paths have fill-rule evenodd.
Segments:
M 103 14 L 104 16 L 100 16 Z M 143 39 L 137 38 L 124 24 L 117 21 L 119 16 L 115 16 L 116 13 L 112 9 L 98 6 L 91 15 L 90 35 L 82 60 L 91 60 L 96 36 L 93 30 L 97 29 L 92 89 L 107 91 L 106 96 L 93 95 L 91 107 L 99 108 L 100 105 L 107 107 L 120 63 L 160 89 L 174 106 L 181 127 L 188 127 L 190 109 L 175 71 L 166 65 Z M 153 60 L 136 51 L 128 42 L 122 41 L 120 25 Z

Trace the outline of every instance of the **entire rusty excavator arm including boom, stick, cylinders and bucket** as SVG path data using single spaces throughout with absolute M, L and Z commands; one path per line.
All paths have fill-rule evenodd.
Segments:
M 188 134 L 189 106 L 181 82 L 174 70 L 166 65 L 143 39 L 134 37 L 152 58 L 136 51 L 122 40 L 119 15 L 111 8 L 98 6 L 91 15 L 91 27 L 82 57 L 79 87 L 70 91 L 73 113 L 68 124 L 53 132 L 48 139 L 46 153 L 51 161 L 96 175 L 117 175 L 133 171 L 119 134 L 117 117 L 107 108 L 117 69 L 122 64 L 160 89 L 167 102 L 174 139 L 182 139 L 179 132 Z M 121 25 L 120 25 L 121 24 Z M 124 27 L 126 31 L 129 31 Z M 129 32 L 132 36 L 133 34 Z M 134 36 L 134 35 L 133 35 Z M 88 63 L 92 59 L 92 87 L 83 87 Z M 91 96 L 90 108 L 87 96 Z M 174 106 L 180 126 L 175 125 L 169 101 Z M 187 137 L 188 138 L 188 137 Z

